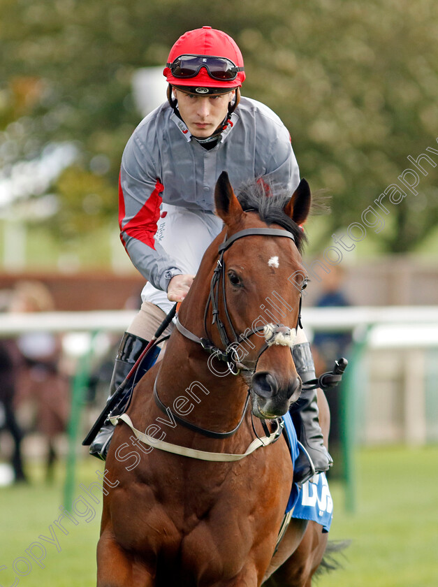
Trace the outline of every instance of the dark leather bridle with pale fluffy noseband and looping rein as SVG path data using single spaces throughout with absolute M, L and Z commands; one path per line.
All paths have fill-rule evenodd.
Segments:
M 231 317 L 228 312 L 228 306 L 226 303 L 226 289 L 225 289 L 226 276 L 225 276 L 224 253 L 226 252 L 226 250 L 228 250 L 231 247 L 231 245 L 233 245 L 233 243 L 236 240 L 238 240 L 240 238 L 245 238 L 247 236 L 254 236 L 254 235 L 280 236 L 280 237 L 285 237 L 285 238 L 291 238 L 291 240 L 293 240 L 293 242 L 295 242 L 295 237 L 293 236 L 293 234 L 290 233 L 289 231 L 286 231 L 283 229 L 252 228 L 252 229 L 243 229 L 242 231 L 238 231 L 237 233 L 231 235 L 231 237 L 229 237 L 229 238 L 227 238 L 227 235 L 225 235 L 224 242 L 222 242 L 221 245 L 219 245 L 219 249 L 218 249 L 219 259 L 217 260 L 216 267 L 214 268 L 214 271 L 213 271 L 212 280 L 210 282 L 210 293 L 207 298 L 207 303 L 205 305 L 205 310 L 204 310 L 205 337 L 200 338 L 196 334 L 189 331 L 188 328 L 185 328 L 185 326 L 183 326 L 181 324 L 181 322 L 178 318 L 175 321 L 175 326 L 176 326 L 177 330 L 185 338 L 188 338 L 192 342 L 196 342 L 198 345 L 203 347 L 203 349 L 208 354 L 214 355 L 216 358 L 218 358 L 219 361 L 224 361 L 228 365 L 228 370 L 230 371 L 231 375 L 239 375 L 241 370 L 245 370 L 245 371 L 254 373 L 256 370 L 258 360 L 261 357 L 261 355 L 263 354 L 263 352 L 265 352 L 265 350 L 268 349 L 268 347 L 270 347 L 272 345 L 284 344 L 283 342 L 278 342 L 279 339 L 281 339 L 282 337 L 287 338 L 288 336 L 291 336 L 291 329 L 287 326 L 284 326 L 283 324 L 271 324 L 271 325 L 269 325 L 270 328 L 268 328 L 268 330 L 267 330 L 266 326 L 259 326 L 258 328 L 252 328 L 251 330 L 245 331 L 245 333 L 238 335 L 238 333 L 236 333 L 235 328 L 233 326 L 233 322 L 231 321 Z M 228 338 L 226 326 L 225 326 L 224 322 L 221 320 L 221 318 L 219 317 L 219 296 L 220 296 L 220 294 L 222 296 L 226 321 L 228 322 L 228 327 L 229 327 L 229 329 L 233 335 L 233 338 L 234 338 L 233 341 L 231 341 Z M 208 316 L 208 311 L 210 309 L 210 305 L 212 307 L 212 326 L 217 327 L 217 330 L 219 332 L 219 337 L 221 339 L 221 343 L 222 343 L 222 345 L 224 345 L 225 350 L 219 349 L 219 347 L 214 345 L 214 342 L 212 342 L 212 340 L 208 337 L 207 316 Z M 298 328 L 298 326 L 300 326 L 302 328 L 302 326 L 301 326 L 301 297 L 300 297 L 300 307 L 299 307 L 299 311 L 298 311 L 298 321 L 297 321 L 297 326 L 295 327 L 295 331 L 296 331 L 296 328 Z M 240 345 L 242 342 L 248 340 L 252 335 L 254 335 L 258 332 L 261 332 L 261 331 L 264 331 L 265 343 L 261 347 L 260 352 L 258 352 L 258 356 L 256 358 L 256 362 L 255 362 L 254 367 L 249 368 L 240 362 L 240 358 L 238 356 L 238 352 L 237 352 L 235 346 Z M 159 398 L 158 391 L 156 389 L 156 380 L 157 379 L 158 379 L 158 375 L 157 375 L 155 382 L 154 382 L 154 400 L 155 400 L 156 405 L 160 408 L 160 410 L 162 410 L 163 412 L 168 412 L 170 410 L 170 408 L 166 407 L 166 405 L 164 405 Z M 192 424 L 191 422 L 184 420 L 183 418 L 180 418 L 180 416 L 178 416 L 178 414 L 175 414 L 174 412 L 171 412 L 171 413 L 172 413 L 175 421 L 177 421 L 178 423 L 181 423 L 186 428 L 190 428 L 191 430 L 194 430 L 195 432 L 201 433 L 201 434 L 208 436 L 208 437 L 226 438 L 226 437 L 233 435 L 238 430 L 240 425 L 242 424 L 242 421 L 244 419 L 244 415 L 247 412 L 248 403 L 249 403 L 249 390 L 247 393 L 247 399 L 244 404 L 242 418 L 240 419 L 238 425 L 235 428 L 233 428 L 233 430 L 229 430 L 228 432 L 214 432 L 213 430 L 206 430 L 205 428 L 200 428 L 200 426 L 196 426 L 195 424 Z

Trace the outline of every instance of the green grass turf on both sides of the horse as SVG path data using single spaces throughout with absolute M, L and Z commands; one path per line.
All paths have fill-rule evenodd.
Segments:
M 330 481 L 335 516 L 330 539 L 351 539 L 339 557 L 343 568 L 323 574 L 319 587 L 437 587 L 438 585 L 438 447 L 360 449 L 356 458 L 356 512 L 344 510 L 344 488 Z M 22 587 L 87 587 L 96 584 L 96 542 L 102 495 L 80 496 L 97 481 L 101 463 L 80 463 L 75 488 L 74 525 L 64 518 L 65 534 L 54 521 L 63 505 L 64 469 L 54 484 L 42 479 L 41 468 L 29 468 L 31 484 L 0 488 L 0 585 Z M 53 534 L 57 540 L 54 539 Z M 40 538 L 43 535 L 52 542 Z M 45 548 L 45 557 L 41 546 Z M 38 563 L 31 557 L 41 558 Z M 31 564 L 31 567 L 29 567 Z M 14 568 L 15 565 L 15 568 Z M 41 566 L 43 565 L 43 566 Z M 17 574 L 18 572 L 18 574 Z

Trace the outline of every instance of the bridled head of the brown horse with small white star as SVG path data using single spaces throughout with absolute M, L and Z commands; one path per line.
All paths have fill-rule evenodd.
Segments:
M 218 328 L 209 330 L 215 331 L 215 344 L 223 348 L 228 342 L 234 349 L 235 364 L 247 373 L 253 413 L 260 418 L 285 414 L 301 392 L 291 350 L 307 282 L 299 224 L 310 201 L 305 180 L 292 196 L 258 180 L 238 198 L 225 172 L 217 181 L 216 212 L 226 226 L 209 298 Z

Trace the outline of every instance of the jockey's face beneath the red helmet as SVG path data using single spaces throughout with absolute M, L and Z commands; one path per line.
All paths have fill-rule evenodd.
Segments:
M 198 138 L 208 138 L 226 117 L 228 103 L 233 100 L 235 91 L 219 96 L 196 96 L 173 88 L 173 94 L 178 101 L 180 115 L 191 134 Z

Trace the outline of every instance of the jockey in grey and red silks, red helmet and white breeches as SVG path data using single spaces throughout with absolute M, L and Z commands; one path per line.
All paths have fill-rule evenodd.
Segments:
M 300 182 L 282 121 L 267 106 L 240 96 L 243 59 L 230 36 L 211 27 L 188 31 L 170 50 L 163 74 L 168 101 L 140 122 L 122 157 L 121 238 L 147 284 L 119 347 L 111 394 L 175 301 L 184 299 L 205 249 L 222 229 L 214 215 L 219 173 L 226 170 L 235 187 L 263 177 L 292 192 Z M 293 359 L 307 382 L 315 377 L 314 364 L 302 331 L 297 342 Z M 126 407 L 130 391 L 124 395 Z M 316 391 L 303 391 L 291 412 L 316 472 L 328 470 L 332 459 L 323 446 Z M 112 430 L 110 424 L 101 428 L 91 454 L 105 459 Z M 301 466 L 295 480 L 309 476 L 308 463 Z

